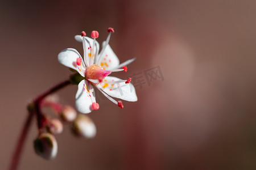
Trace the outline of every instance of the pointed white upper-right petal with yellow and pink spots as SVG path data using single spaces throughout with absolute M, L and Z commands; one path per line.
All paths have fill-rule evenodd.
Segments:
M 102 43 L 102 46 L 104 46 L 105 42 L 106 41 Z M 104 52 L 101 53 L 99 54 L 99 56 L 101 56 L 101 59 L 100 61 L 98 61 L 98 65 L 100 65 L 106 70 L 115 69 L 115 67 L 119 65 L 119 59 L 115 55 L 109 44 L 106 46 Z

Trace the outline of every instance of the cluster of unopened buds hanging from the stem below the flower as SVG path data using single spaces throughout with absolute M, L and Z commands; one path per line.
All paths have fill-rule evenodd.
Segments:
M 42 127 L 34 141 L 36 154 L 44 159 L 54 159 L 57 155 L 56 134 L 63 131 L 63 123 L 70 124 L 71 131 L 78 137 L 93 138 L 96 135 L 96 126 L 84 114 L 77 114 L 69 105 L 62 105 L 57 97 L 48 97 L 42 101 L 40 108 L 48 107 L 56 114 L 57 118 L 43 116 Z

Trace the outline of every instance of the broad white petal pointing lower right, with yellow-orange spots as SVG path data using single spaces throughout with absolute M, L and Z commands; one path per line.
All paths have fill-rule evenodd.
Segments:
M 98 85 L 101 87 L 101 90 L 109 96 L 127 101 L 137 101 L 138 98 L 133 84 L 125 84 L 125 82 L 114 83 L 119 80 L 122 79 L 114 76 L 106 76 L 106 78 Z

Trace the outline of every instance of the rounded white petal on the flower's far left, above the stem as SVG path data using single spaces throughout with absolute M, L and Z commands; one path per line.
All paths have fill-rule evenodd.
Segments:
M 67 48 L 67 49 L 62 50 L 59 53 L 58 60 L 64 66 L 74 69 L 77 72 L 79 72 L 82 76 L 84 76 L 85 75 L 85 64 L 84 64 L 83 59 L 82 59 L 81 66 L 77 66 L 77 64 L 76 64 L 76 59 L 79 57 L 82 59 L 81 55 L 79 54 L 79 52 L 77 52 L 76 49 Z

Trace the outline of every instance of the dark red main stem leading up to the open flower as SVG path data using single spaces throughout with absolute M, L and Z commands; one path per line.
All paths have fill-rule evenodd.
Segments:
M 52 94 L 53 92 L 56 92 L 57 90 L 60 90 L 61 88 L 64 88 L 71 84 L 70 80 L 65 80 L 64 82 L 61 82 L 57 84 L 56 86 L 50 88 L 46 92 L 44 92 L 42 95 L 39 95 L 36 99 L 33 100 L 32 104 L 34 104 L 34 108 L 29 111 L 29 114 L 27 116 L 27 120 L 23 126 L 22 133 L 19 136 L 19 139 L 16 143 L 16 148 L 13 154 L 13 158 L 11 159 L 9 170 L 15 170 L 18 167 L 19 160 L 20 160 L 20 154 L 22 152 L 22 148 L 24 146 L 24 141 L 27 137 L 28 129 L 30 128 L 32 117 L 34 114 L 36 114 L 37 120 L 38 120 L 38 128 L 42 127 L 42 118 L 44 118 L 44 115 L 40 112 L 40 103 L 44 99 L 44 97 Z

